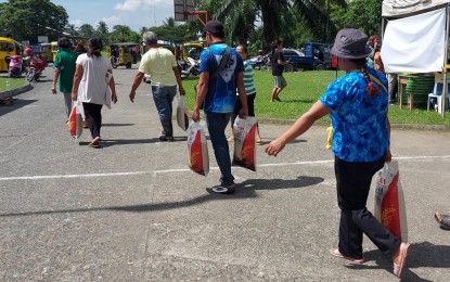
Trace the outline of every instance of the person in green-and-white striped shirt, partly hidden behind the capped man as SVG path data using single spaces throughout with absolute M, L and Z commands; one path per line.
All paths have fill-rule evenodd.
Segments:
M 255 116 L 255 98 L 256 98 L 256 88 L 255 82 L 253 79 L 253 67 L 248 59 L 248 49 L 244 44 L 240 44 L 236 47 L 237 53 L 242 56 L 242 60 L 244 60 L 244 87 L 245 87 L 245 93 L 247 94 L 247 105 L 248 105 L 248 116 Z M 236 99 L 236 104 L 234 105 L 234 112 L 231 117 L 231 129 L 233 129 L 234 120 L 236 119 L 236 116 L 239 114 L 239 111 L 242 107 L 241 100 Z M 256 137 L 255 137 L 256 143 L 261 143 L 261 137 L 259 136 L 259 128 L 257 124 L 257 130 L 256 130 Z M 231 130 L 231 134 L 228 138 L 229 142 L 234 141 L 234 133 L 233 130 Z

